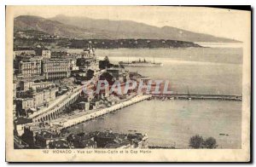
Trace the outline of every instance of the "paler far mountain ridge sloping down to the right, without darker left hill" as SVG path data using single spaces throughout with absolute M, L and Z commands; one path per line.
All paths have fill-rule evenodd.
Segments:
M 78 26 L 93 32 L 101 32 L 108 37 L 117 39 L 143 38 L 143 39 L 171 39 L 189 42 L 237 42 L 224 37 L 185 31 L 172 26 L 149 26 L 131 20 L 96 20 L 87 17 L 68 17 L 56 15 L 50 20 L 56 20 L 67 25 Z

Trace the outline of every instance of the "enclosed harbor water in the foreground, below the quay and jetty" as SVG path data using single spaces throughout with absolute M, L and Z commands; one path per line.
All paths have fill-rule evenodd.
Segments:
M 213 136 L 219 147 L 241 144 L 241 103 L 235 101 L 142 101 L 71 131 L 137 130 L 154 146 L 187 148 L 192 135 Z M 220 133 L 229 135 L 219 135 Z

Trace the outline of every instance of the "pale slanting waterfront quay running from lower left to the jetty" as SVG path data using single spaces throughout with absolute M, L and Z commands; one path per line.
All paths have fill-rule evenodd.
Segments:
M 109 112 L 114 112 L 123 107 L 128 107 L 128 106 L 135 104 L 139 101 L 144 101 L 150 97 L 151 97 L 151 95 L 136 95 L 135 97 L 132 97 L 131 99 L 129 99 L 127 101 L 120 102 L 119 104 L 115 104 L 111 107 L 106 107 L 106 108 L 102 108 L 100 110 L 91 111 L 91 112 L 81 112 L 79 114 L 70 116 L 66 119 L 65 118 L 57 118 L 57 119 L 51 121 L 50 123 L 52 125 L 57 125 L 58 130 L 62 130 L 62 129 L 68 128 L 70 126 L 73 126 L 75 124 L 79 124 L 84 121 L 87 121 L 87 120 L 90 120 L 90 119 L 93 119 L 96 117 L 100 117 Z

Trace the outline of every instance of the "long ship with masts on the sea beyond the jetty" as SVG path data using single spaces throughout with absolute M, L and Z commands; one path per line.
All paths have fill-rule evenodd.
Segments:
M 151 61 L 147 61 L 147 60 L 141 60 L 141 59 L 139 59 L 139 60 L 134 60 L 134 61 L 129 61 L 129 59 L 128 59 L 128 61 L 126 61 L 126 62 L 124 62 L 124 61 L 119 61 L 119 65 L 121 65 L 121 66 L 163 66 L 163 63 L 161 63 L 161 62 L 151 62 Z

